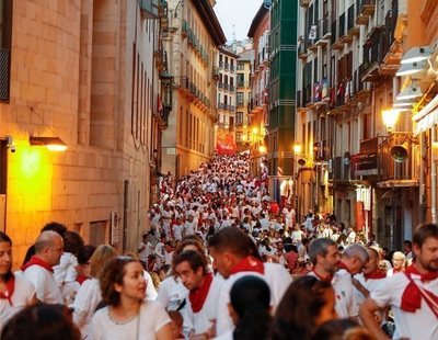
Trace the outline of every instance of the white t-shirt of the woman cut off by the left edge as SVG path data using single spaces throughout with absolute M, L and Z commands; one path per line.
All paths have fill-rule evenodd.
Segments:
M 7 298 L 0 298 L 0 331 L 11 317 L 31 303 L 34 295 L 33 284 L 15 275 L 14 291 L 11 297 L 12 306 Z

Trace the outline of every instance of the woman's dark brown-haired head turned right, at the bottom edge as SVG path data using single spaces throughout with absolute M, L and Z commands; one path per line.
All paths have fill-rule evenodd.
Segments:
M 291 283 L 275 313 L 272 339 L 310 340 L 323 322 L 336 319 L 330 282 L 303 276 Z

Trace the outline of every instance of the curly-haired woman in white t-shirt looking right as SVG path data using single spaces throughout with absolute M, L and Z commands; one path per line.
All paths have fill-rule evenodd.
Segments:
M 104 269 L 101 292 L 106 307 L 91 321 L 90 339 L 173 339 L 171 319 L 160 303 L 145 302 L 140 261 L 117 257 Z

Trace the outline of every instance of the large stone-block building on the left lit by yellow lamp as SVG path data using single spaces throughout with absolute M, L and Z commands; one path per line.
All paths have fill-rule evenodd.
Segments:
M 136 250 L 159 143 L 159 9 L 137 1 L 1 4 L 10 68 L 1 75 L 0 225 L 15 261 L 51 220 L 85 243 Z M 42 146 L 54 138 L 68 149 Z

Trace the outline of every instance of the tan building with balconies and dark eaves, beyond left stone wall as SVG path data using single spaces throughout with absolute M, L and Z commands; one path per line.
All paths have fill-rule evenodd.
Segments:
M 197 169 L 215 149 L 215 65 L 226 37 L 212 5 L 214 1 L 168 1 L 164 48 L 173 76 L 173 110 L 162 135 L 162 171 L 176 178 Z

